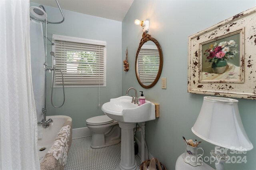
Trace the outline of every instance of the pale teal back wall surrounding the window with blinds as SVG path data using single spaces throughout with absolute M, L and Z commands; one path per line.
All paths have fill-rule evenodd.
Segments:
M 61 5 L 61 2 L 60 2 Z M 30 3 L 30 6 L 39 4 Z M 49 21 L 61 21 L 62 16 L 58 8 L 45 6 Z M 122 23 L 100 17 L 89 16 L 63 10 L 65 21 L 60 24 L 48 24 L 48 37 L 52 34 L 80 37 L 106 41 L 107 43 L 107 74 L 106 87 L 100 88 L 100 104 L 109 102 L 122 94 Z M 47 63 L 52 65 L 50 51 L 51 44 L 47 42 Z M 43 64 L 43 63 L 42 63 Z M 43 65 L 42 65 L 43 66 Z M 60 108 L 52 107 L 51 74 L 47 74 L 47 115 L 68 115 L 73 119 L 73 128 L 86 127 L 86 119 L 104 115 L 98 107 L 99 90 L 97 87 L 65 88 L 66 101 Z M 53 102 L 56 106 L 62 104 L 62 88 L 54 88 Z

